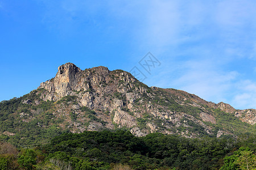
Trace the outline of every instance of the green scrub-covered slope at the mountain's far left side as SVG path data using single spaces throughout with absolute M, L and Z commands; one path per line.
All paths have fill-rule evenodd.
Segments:
M 59 118 L 52 119 L 53 102 L 41 100 L 38 94 L 40 91 L 43 89 L 0 102 L 1 141 L 8 141 L 18 147 L 28 147 L 49 142 L 50 138 L 67 132 L 57 126 L 61 121 Z M 40 104 L 22 103 L 28 98 L 33 102 L 40 100 Z

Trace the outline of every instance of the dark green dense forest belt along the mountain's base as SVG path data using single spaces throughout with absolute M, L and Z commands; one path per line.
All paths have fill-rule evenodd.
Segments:
M 89 157 L 99 162 L 127 163 L 134 169 L 160 166 L 214 169 L 221 167 L 220 160 L 234 145 L 228 138 L 187 139 L 160 133 L 137 138 L 126 131 L 85 131 L 56 137 L 46 150 L 62 151 L 70 156 L 76 153 L 79 158 Z M 91 164 L 86 162 L 86 165 Z

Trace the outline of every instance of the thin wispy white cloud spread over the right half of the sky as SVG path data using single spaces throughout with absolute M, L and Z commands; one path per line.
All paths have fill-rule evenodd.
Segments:
M 249 85 L 235 86 L 245 79 L 240 75 L 242 70 L 232 66 L 237 59 L 255 56 L 255 1 L 155 3 L 148 15 L 148 20 L 153 22 L 147 22 L 137 34 L 144 32 L 147 46 L 156 51 L 157 56 L 165 56 L 161 58 L 163 62 L 172 60 L 169 67 L 179 67 L 174 70 L 166 65 L 163 70 L 170 71 L 160 73 L 162 77 L 169 77 L 169 82 L 160 78 L 152 82 L 159 82 L 160 86 L 171 84 L 210 101 L 225 101 L 236 108 L 256 108 L 250 98 L 238 102 L 241 94 L 243 97 L 254 95 L 246 89 Z M 144 37 L 139 43 L 143 41 Z M 179 77 L 168 76 L 173 74 Z

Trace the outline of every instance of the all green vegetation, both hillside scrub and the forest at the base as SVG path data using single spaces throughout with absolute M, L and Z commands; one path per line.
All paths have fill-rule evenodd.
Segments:
M 187 137 L 197 134 L 199 138 L 162 133 L 135 137 L 129 131 L 131 128 L 117 129 L 114 122 L 115 130 L 112 131 L 102 130 L 104 128 L 84 131 L 92 122 L 107 125 L 99 113 L 112 117 L 113 121 L 113 112 L 81 107 L 77 96 L 68 95 L 56 102 L 43 101 L 40 96 L 44 91 L 39 88 L 22 97 L 0 102 L 0 169 L 256 168 L 256 125 L 246 124 L 232 113 L 201 105 L 216 118 L 216 124 L 204 122 L 211 127 L 212 133 L 207 133 L 203 126 L 186 116 L 174 124 L 170 118 L 160 119 L 144 112 L 143 117 L 136 118 L 141 130 L 148 128 L 148 122 L 154 122 L 159 130 L 179 131 L 187 133 Z M 147 101 L 152 100 L 152 104 L 159 106 L 159 112 L 166 109 L 184 112 L 201 120 L 203 110 L 189 105 L 191 101 L 185 100 L 181 105 L 177 96 L 163 90 L 154 91 L 153 99 L 147 93 L 153 93 L 151 88 L 147 88 L 143 99 L 136 99 L 134 105 L 144 108 Z M 121 110 L 134 116 L 127 108 L 125 95 L 115 92 L 112 97 L 123 100 Z M 72 108 L 73 105 L 78 108 Z M 74 133 L 79 131 L 74 128 L 75 124 L 81 124 L 84 132 Z M 220 130 L 230 135 L 216 138 Z

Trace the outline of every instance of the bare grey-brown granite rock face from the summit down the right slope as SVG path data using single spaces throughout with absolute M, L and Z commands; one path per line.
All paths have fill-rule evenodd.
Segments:
M 109 71 L 103 66 L 81 70 L 73 63 L 65 63 L 59 66 L 55 78 L 41 83 L 39 88 L 44 89 L 42 100 L 59 101 L 64 96 L 75 96 L 74 113 L 80 115 L 79 109 L 86 107 L 106 122 L 95 121 L 87 128 L 76 124 L 82 130 L 113 129 L 115 126 L 129 128 L 137 136 L 158 131 L 198 137 L 201 133 L 213 134 L 212 127 L 205 123 L 216 124 L 214 113 L 209 108 L 236 114 L 249 124 L 256 122 L 254 109 L 240 111 L 228 104 L 214 104 L 184 91 L 150 88 L 126 71 Z M 59 108 L 58 113 L 64 114 L 65 108 Z M 203 131 L 195 133 L 192 125 L 200 126 Z M 181 131 L 181 127 L 187 130 Z M 221 134 L 229 133 L 222 130 L 218 136 Z

